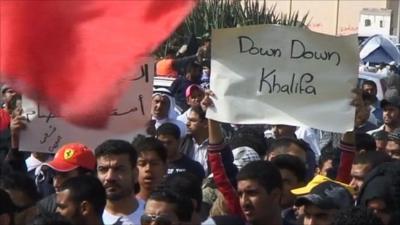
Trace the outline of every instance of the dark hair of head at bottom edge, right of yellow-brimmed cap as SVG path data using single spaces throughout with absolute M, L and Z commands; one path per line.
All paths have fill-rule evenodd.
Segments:
M 372 210 L 352 207 L 339 211 L 333 225 L 383 225 L 383 223 Z

